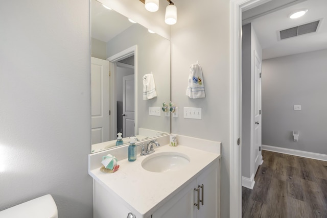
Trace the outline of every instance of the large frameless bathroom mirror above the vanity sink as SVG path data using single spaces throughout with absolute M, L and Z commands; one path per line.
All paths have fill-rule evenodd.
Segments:
M 170 133 L 168 39 L 91 0 L 91 56 L 91 153 L 115 148 L 119 132 L 123 144 Z M 144 77 L 155 98 L 144 100 Z

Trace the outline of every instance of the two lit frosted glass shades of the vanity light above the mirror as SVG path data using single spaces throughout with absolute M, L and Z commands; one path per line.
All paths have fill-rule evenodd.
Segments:
M 139 0 L 145 4 L 148 11 L 155 12 L 159 9 L 159 0 Z M 166 7 L 165 22 L 168 25 L 174 25 L 177 22 L 177 8 L 174 3 L 167 0 L 169 5 Z

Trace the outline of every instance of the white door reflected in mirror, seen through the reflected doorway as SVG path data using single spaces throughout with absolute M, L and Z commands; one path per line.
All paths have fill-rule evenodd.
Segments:
M 134 133 L 134 75 L 123 77 L 123 137 Z

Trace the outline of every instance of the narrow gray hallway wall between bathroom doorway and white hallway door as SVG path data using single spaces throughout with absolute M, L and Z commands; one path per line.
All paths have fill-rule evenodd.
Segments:
M 254 74 L 254 50 L 259 59 L 262 59 L 262 48 L 251 23 L 242 28 L 242 46 L 242 176 L 251 178 L 256 173 L 254 172 L 255 152 L 251 150 L 250 140 L 253 119 L 251 92 L 254 90 L 251 87 L 253 83 L 251 76 Z

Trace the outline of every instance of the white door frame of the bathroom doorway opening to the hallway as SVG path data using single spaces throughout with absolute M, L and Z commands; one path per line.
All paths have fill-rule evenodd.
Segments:
M 229 2 L 229 217 L 242 217 L 242 11 L 269 1 Z

